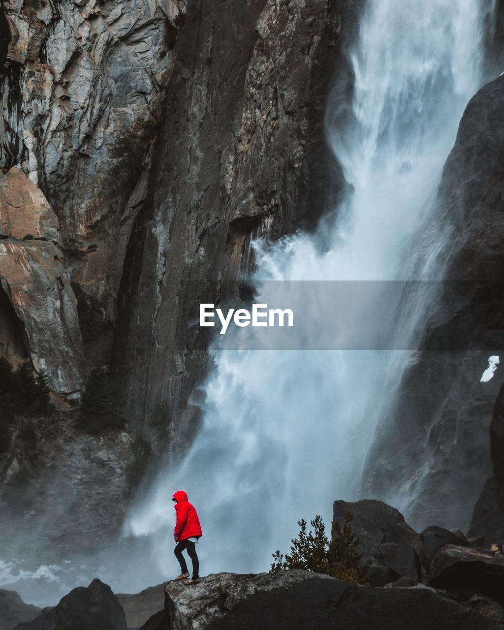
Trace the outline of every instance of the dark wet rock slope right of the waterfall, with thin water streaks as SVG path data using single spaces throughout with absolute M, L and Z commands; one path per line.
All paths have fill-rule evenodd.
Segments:
M 504 77 L 467 105 L 438 188 L 435 217 L 420 243 L 440 245 L 438 283 L 420 338 L 370 452 L 365 492 L 402 502 L 418 529 L 469 525 L 491 475 L 488 427 L 503 381 L 479 379 L 500 355 L 504 319 Z M 435 283 L 432 283 L 435 285 Z

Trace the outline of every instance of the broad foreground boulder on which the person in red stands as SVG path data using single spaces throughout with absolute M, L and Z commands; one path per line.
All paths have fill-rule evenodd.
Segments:
M 436 592 L 360 587 L 306 571 L 220 573 L 185 587 L 165 587 L 160 612 L 142 630 L 490 630 L 491 622 Z

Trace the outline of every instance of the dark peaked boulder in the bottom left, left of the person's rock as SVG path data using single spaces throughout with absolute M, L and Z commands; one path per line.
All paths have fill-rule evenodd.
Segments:
M 57 606 L 16 630 L 127 630 L 127 626 L 112 589 L 95 579 L 88 587 L 74 588 Z

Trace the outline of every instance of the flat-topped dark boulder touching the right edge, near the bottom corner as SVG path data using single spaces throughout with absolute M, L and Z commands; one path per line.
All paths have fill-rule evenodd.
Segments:
M 493 551 L 445 546 L 433 559 L 428 580 L 455 595 L 470 592 L 504 605 L 504 556 Z

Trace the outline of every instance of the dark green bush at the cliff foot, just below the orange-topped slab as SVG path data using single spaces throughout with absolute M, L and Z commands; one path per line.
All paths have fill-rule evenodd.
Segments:
M 122 406 L 120 387 L 113 381 L 108 371 L 101 367 L 93 368 L 81 399 L 79 414 L 81 428 L 88 433 L 122 428 L 125 425 Z

